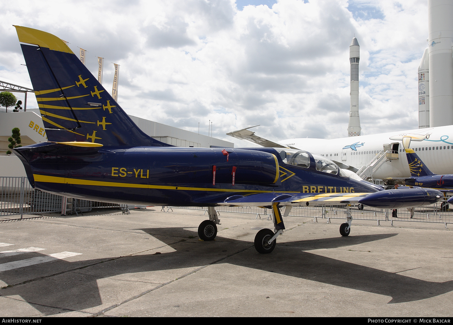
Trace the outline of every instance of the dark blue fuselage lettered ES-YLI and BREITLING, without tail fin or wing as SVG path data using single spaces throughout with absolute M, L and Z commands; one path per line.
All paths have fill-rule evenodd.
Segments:
M 273 148 L 227 150 L 48 143 L 15 149 L 35 188 L 96 201 L 208 206 L 237 194 L 379 190 L 304 151 L 297 154 L 306 158 L 302 166 L 295 158 L 285 163 Z

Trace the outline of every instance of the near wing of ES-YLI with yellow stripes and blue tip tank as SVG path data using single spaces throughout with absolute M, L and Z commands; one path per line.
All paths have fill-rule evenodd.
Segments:
M 442 200 L 443 195 L 432 188 L 404 188 L 375 193 L 257 193 L 233 195 L 219 205 L 269 206 L 273 203 L 289 206 L 364 204 L 384 209 L 421 207 Z

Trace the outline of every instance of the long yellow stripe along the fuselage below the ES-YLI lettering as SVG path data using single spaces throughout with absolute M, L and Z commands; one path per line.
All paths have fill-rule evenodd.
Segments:
M 43 183 L 58 183 L 58 184 L 73 184 L 73 185 L 92 185 L 92 186 L 112 186 L 112 187 L 127 187 L 127 188 L 156 188 L 156 189 L 178 189 L 185 191 L 210 191 L 210 192 L 242 192 L 242 193 L 273 193 L 274 191 L 256 191 L 252 189 L 227 189 L 227 188 L 200 188 L 200 187 L 183 187 L 183 186 L 162 186 L 148 184 L 131 184 L 104 182 L 98 180 L 73 179 L 65 177 L 47 176 L 33 174 L 35 182 Z M 283 193 L 284 191 L 282 191 Z M 284 193 L 288 193 L 285 191 Z

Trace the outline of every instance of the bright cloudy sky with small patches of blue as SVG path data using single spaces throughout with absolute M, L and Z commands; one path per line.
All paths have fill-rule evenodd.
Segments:
M 347 136 L 349 45 L 360 43 L 362 134 L 418 127 L 417 68 L 427 0 L 0 0 L 0 80 L 31 85 L 15 29 L 86 49 L 131 115 L 250 146 L 226 132 L 260 124 L 270 140 Z M 29 108 L 36 108 L 29 96 Z

